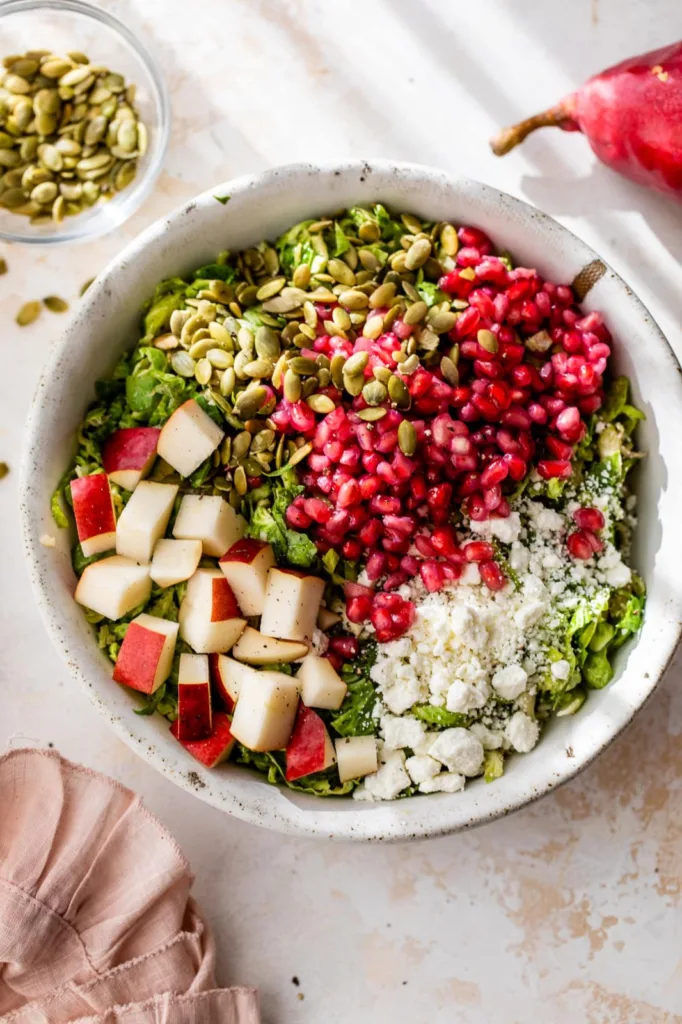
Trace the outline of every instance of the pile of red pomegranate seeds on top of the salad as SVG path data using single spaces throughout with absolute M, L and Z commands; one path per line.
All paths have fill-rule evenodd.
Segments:
M 417 573 L 433 592 L 475 561 L 491 590 L 505 586 L 488 544 L 460 545 L 453 511 L 459 506 L 465 519 L 479 522 L 505 518 L 509 497 L 532 469 L 544 480 L 567 479 L 585 420 L 603 398 L 610 336 L 600 314 L 582 315 L 570 288 L 537 270 L 510 270 L 482 231 L 462 227 L 458 234 L 457 266 L 438 287 L 459 315 L 436 358 L 422 353 L 428 366 L 404 369 L 414 331 L 404 321 L 376 340 L 351 343 L 325 333 L 334 307 L 317 309 L 309 354 L 368 353 L 366 381 L 386 371 L 402 381 L 409 399 L 400 408 L 389 392 L 368 422 L 361 393 L 330 385 L 325 393 L 335 409 L 322 419 L 284 397 L 271 416 L 312 443 L 305 494 L 288 521 L 311 530 L 321 553 L 334 549 L 365 562 L 373 586 L 346 588 L 347 614 L 371 621 L 380 640 L 409 629 L 414 608 L 391 592 Z M 583 509 L 577 516 L 566 542 L 572 557 L 601 550 L 599 515 Z

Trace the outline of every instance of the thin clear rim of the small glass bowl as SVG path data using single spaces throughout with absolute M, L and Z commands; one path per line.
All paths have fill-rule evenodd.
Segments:
M 120 194 L 120 201 L 105 203 L 95 207 L 96 216 L 83 221 L 79 226 L 79 217 L 67 219 L 62 230 L 55 234 L 31 234 L 20 229 L 16 231 L 3 230 L 0 226 L 0 239 L 4 242 L 22 243 L 23 245 L 53 246 L 65 242 L 85 241 L 95 239 L 123 224 L 141 206 L 152 191 L 161 172 L 168 148 L 171 124 L 171 105 L 166 81 L 158 62 L 150 51 L 137 40 L 128 27 L 114 14 L 87 3 L 86 0 L 3 0 L 0 3 L 0 32 L 4 18 L 11 14 L 31 11 L 68 11 L 89 17 L 105 25 L 128 44 L 135 52 L 140 62 L 146 69 L 155 92 L 159 109 L 159 122 L 155 127 L 157 145 L 154 159 L 146 167 L 144 174 L 129 189 Z M 1 54 L 0 54 L 1 56 Z M 19 218 L 17 217 L 17 220 Z

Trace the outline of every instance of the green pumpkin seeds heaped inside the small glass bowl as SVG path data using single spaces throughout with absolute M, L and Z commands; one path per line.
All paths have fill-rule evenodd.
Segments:
M 59 224 L 131 183 L 147 146 L 134 85 L 84 53 L 2 63 L 0 207 Z

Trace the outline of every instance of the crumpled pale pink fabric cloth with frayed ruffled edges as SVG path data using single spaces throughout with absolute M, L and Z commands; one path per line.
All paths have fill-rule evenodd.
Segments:
M 55 751 L 0 758 L 0 1021 L 259 1024 L 216 988 L 193 874 L 139 797 Z

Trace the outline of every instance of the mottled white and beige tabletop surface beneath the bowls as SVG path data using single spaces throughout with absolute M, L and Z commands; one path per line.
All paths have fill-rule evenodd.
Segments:
M 172 86 L 156 195 L 115 237 L 44 253 L 1 246 L 0 749 L 53 743 L 139 792 L 180 841 L 216 931 L 220 980 L 259 985 L 267 1024 L 663 1024 L 682 1021 L 682 698 L 674 668 L 580 778 L 478 831 L 331 847 L 232 821 L 157 776 L 70 681 L 18 543 L 23 424 L 49 344 L 23 301 L 72 298 L 180 200 L 305 158 L 440 165 L 552 213 L 632 284 L 682 354 L 682 207 L 545 132 L 496 161 L 486 139 L 588 74 L 680 33 L 679 0 L 117 0 Z M 300 988 L 292 977 L 300 979 Z M 301 996 L 304 995 L 304 998 Z

